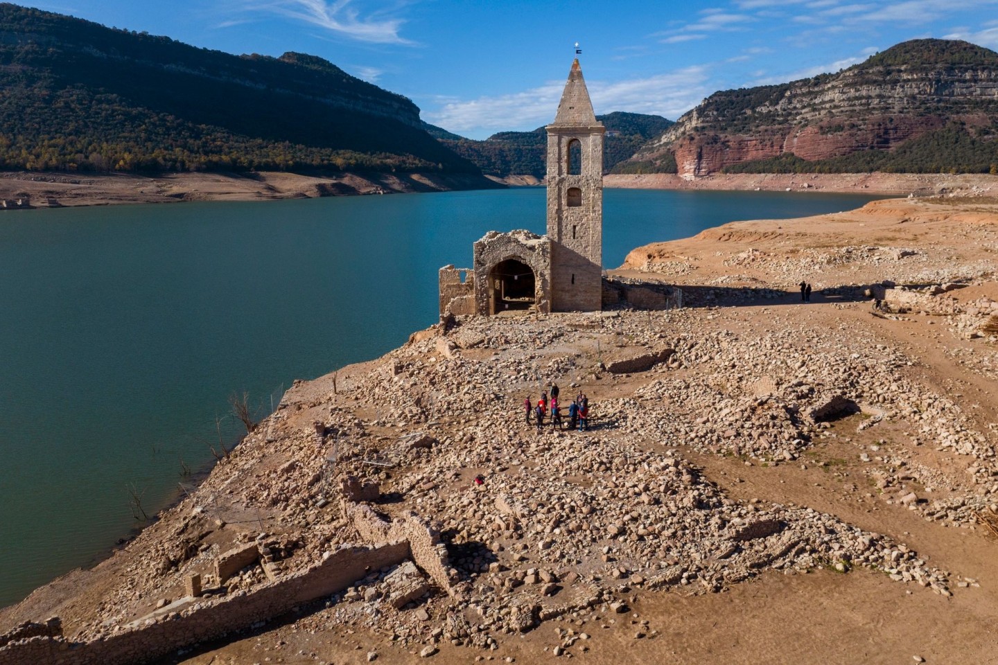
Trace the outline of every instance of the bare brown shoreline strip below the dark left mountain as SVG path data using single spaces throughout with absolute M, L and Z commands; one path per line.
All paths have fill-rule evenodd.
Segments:
M 484 177 L 419 173 L 336 173 L 327 176 L 278 171 L 167 173 L 158 177 L 42 172 L 0 173 L 0 199 L 29 199 L 32 207 L 163 203 L 184 200 L 274 200 L 352 194 L 482 188 Z M 498 186 L 498 185 L 495 185 Z

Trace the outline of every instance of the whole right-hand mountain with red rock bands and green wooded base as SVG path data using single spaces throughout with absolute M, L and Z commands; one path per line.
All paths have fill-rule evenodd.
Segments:
M 912 40 L 837 74 L 715 93 L 617 172 L 980 172 L 998 164 L 996 131 L 998 53 Z

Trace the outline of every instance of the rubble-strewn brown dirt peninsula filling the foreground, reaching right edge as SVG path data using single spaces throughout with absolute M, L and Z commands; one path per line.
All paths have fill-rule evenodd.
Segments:
M 336 502 L 316 502 L 324 488 L 305 489 L 323 468 L 310 434 L 322 420 L 353 442 L 340 473 L 391 497 L 378 510 L 441 528 L 461 599 L 437 591 L 396 611 L 365 599 L 374 574 L 162 662 L 407 663 L 427 645 L 442 663 L 996 662 L 998 201 L 737 222 L 637 248 L 615 273 L 679 285 L 686 307 L 458 321 L 298 384 L 198 496 L 0 610 L 0 632 L 58 614 L 68 636 L 99 639 L 260 528 L 303 543 L 288 570 L 355 541 Z M 913 288 L 873 310 L 863 291 L 884 281 Z M 606 369 L 667 347 L 646 371 Z M 522 423 L 524 396 L 552 380 L 563 399 L 589 396 L 592 432 Z M 852 408 L 815 415 L 830 395 Z M 398 454 L 419 430 L 433 447 Z M 522 508 L 515 523 L 500 498 Z M 759 520 L 783 530 L 739 535 Z M 179 533 L 197 534 L 198 555 L 163 564 L 192 544 Z M 535 569 L 560 578 L 552 596 Z M 247 570 L 231 591 L 260 583 Z M 576 602 L 583 589 L 596 602 Z M 566 609 L 509 623 L 511 608 L 551 602 Z M 451 631 L 455 616 L 468 631 Z

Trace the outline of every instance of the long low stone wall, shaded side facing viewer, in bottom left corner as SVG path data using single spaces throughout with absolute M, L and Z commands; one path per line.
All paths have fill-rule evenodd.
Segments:
M 341 545 L 312 567 L 249 593 L 199 602 L 179 614 L 168 614 L 104 639 L 71 643 L 45 631 L 35 637 L 15 638 L 0 648 L 0 665 L 146 663 L 177 649 L 280 616 L 295 605 L 342 591 L 371 570 L 397 565 L 408 557 L 409 543 L 404 541 L 370 548 Z

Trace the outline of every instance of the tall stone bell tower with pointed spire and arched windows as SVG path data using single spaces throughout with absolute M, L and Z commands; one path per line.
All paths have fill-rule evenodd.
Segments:
M 579 59 L 548 131 L 551 310 L 592 312 L 603 301 L 603 134 Z

